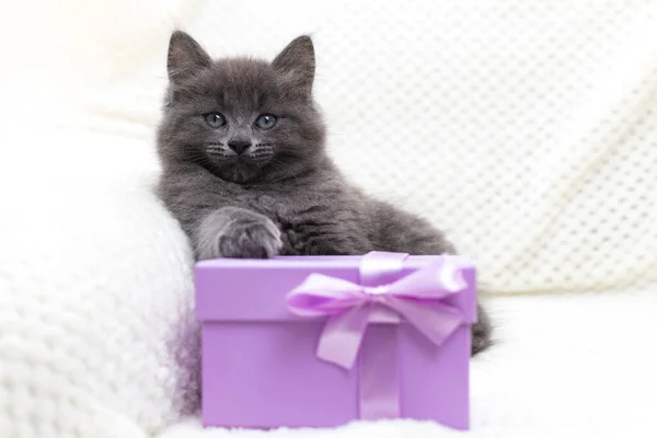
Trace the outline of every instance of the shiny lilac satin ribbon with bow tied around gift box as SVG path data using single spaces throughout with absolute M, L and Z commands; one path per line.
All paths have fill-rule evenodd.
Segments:
M 440 302 L 466 288 L 460 266 L 439 257 L 396 279 L 408 254 L 371 252 L 362 257 L 360 284 L 311 274 L 287 296 L 290 311 L 303 318 L 327 316 L 318 358 L 351 369 L 360 350 L 360 417 L 400 417 L 396 324 L 411 323 L 436 346 L 464 321 L 460 310 Z M 377 324 L 361 346 L 370 322 Z

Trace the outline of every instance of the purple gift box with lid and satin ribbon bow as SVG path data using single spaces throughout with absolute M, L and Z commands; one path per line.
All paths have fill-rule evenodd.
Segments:
M 203 423 L 469 427 L 475 270 L 464 257 L 212 260 L 196 264 Z

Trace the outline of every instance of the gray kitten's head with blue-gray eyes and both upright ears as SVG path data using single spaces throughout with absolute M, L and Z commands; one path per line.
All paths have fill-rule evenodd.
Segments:
M 313 46 L 307 36 L 269 64 L 212 61 L 191 36 L 174 33 L 160 157 L 165 165 L 183 161 L 235 183 L 303 172 L 322 155 L 324 143 L 311 96 L 313 77 Z

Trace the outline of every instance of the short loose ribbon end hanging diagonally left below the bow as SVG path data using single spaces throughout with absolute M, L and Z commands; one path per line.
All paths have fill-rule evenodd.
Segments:
M 328 318 L 320 336 L 316 356 L 345 369 L 351 369 L 362 343 L 369 307 L 358 306 Z

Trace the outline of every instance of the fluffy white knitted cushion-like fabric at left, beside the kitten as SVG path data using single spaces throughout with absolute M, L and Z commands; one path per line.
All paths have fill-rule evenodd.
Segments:
M 107 134 L 0 127 L 22 146 L 0 160 L 0 437 L 130 438 L 174 422 L 197 382 L 192 257 L 152 194 L 152 154 Z

